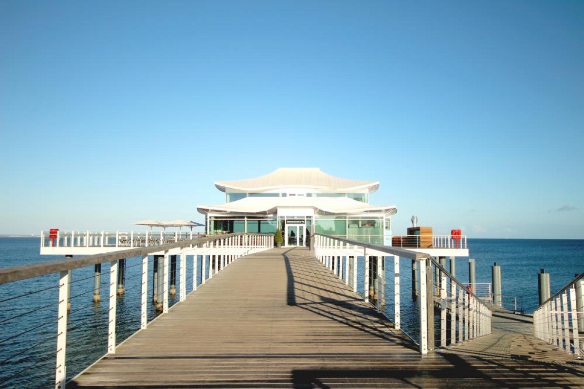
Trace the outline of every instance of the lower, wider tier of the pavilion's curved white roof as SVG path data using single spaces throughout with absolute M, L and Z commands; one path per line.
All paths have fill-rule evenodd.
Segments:
M 223 205 L 199 205 L 200 213 L 276 213 L 279 207 L 314 208 L 316 213 L 383 212 L 394 215 L 395 206 L 374 206 L 347 197 L 246 197 Z M 320 211 L 320 212 L 319 212 Z

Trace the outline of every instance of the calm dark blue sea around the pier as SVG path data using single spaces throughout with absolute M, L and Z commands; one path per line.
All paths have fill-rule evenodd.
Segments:
M 39 255 L 38 238 L 0 238 L 0 268 L 51 261 L 59 258 Z M 534 239 L 469 239 L 470 258 L 475 259 L 477 282 L 491 282 L 491 266 L 497 262 L 502 268 L 502 292 L 518 296 L 526 312 L 537 307 L 537 274 L 540 268 L 550 273 L 552 294 L 571 281 L 575 274 L 584 271 L 584 240 L 534 240 Z M 190 259 L 190 258 L 189 258 Z M 140 265 L 138 258 L 128 258 L 126 264 L 126 295 L 118 298 L 118 341 L 128 337 L 140 327 Z M 407 264 L 408 261 L 402 263 Z M 362 258 L 360 258 L 362 264 Z M 389 265 L 389 264 L 387 264 Z M 152 266 L 152 265 L 150 265 Z M 447 265 L 448 268 L 448 265 Z M 103 265 L 102 274 L 109 267 Z M 93 269 L 74 271 L 69 317 L 68 376 L 72 377 L 89 363 L 106 352 L 107 303 L 92 303 Z M 457 258 L 456 276 L 468 282 L 468 258 Z M 108 293 L 106 276 L 102 277 L 102 299 Z M 359 276 L 362 288 L 361 276 Z M 407 271 L 402 282 L 406 292 Z M 56 347 L 57 275 L 0 285 L 0 387 L 49 387 L 54 380 L 54 351 Z M 390 284 L 391 282 L 388 282 Z M 187 290 L 192 284 L 192 269 L 187 269 Z M 388 289 L 391 286 L 388 285 Z M 48 288 L 48 289 L 47 289 Z M 30 292 L 43 290 L 34 295 Z M 19 299 L 6 300 L 18 295 Z M 388 290 L 388 296 L 391 291 Z M 406 293 L 402 297 L 402 324 L 408 321 L 408 310 L 415 303 L 408 302 Z M 411 299 L 410 299 L 411 300 Z M 172 300 L 171 304 L 176 302 Z M 2 307 L 4 305 L 4 307 Z M 151 304 L 150 304 L 151 305 Z M 389 303 L 388 303 L 389 305 Z M 10 306 L 11 309 L 5 309 Z M 33 307 L 42 310 L 25 314 Z M 22 317 L 14 315 L 23 314 Z M 10 315 L 10 316 L 9 316 Z M 150 318 L 156 316 L 149 307 Z M 391 313 L 388 312 L 391 317 Z M 413 315 L 415 316 L 415 315 Z M 416 318 L 412 318 L 415 331 Z M 8 334 L 25 332 L 11 339 Z M 12 376 L 16 376 L 11 378 Z

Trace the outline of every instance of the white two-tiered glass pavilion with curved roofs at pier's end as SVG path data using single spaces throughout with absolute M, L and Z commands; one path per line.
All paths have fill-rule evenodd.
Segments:
M 225 204 L 199 205 L 207 234 L 276 233 L 284 246 L 307 246 L 312 232 L 391 244 L 395 206 L 369 204 L 378 181 L 330 176 L 317 168 L 280 168 L 239 181 L 217 181 Z

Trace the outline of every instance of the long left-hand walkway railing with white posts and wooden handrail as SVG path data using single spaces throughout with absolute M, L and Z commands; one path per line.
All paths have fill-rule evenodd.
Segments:
M 64 236 L 69 237 L 68 242 L 73 244 L 78 235 L 71 232 Z M 60 238 L 64 239 L 64 236 Z M 104 238 L 100 243 L 106 242 L 107 234 L 104 233 L 102 236 Z M 116 239 L 119 241 L 119 235 Z M 84 326 L 88 328 L 86 336 L 100 338 L 99 334 L 95 334 L 95 328 L 99 327 L 95 323 L 96 320 L 99 321 L 99 328 L 102 328 L 105 335 L 102 338 L 107 339 L 105 340 L 107 344 L 103 344 L 102 353 L 115 353 L 120 340 L 116 335 L 117 296 L 120 295 L 120 282 L 123 283 L 120 281 L 120 275 L 126 274 L 127 269 L 135 269 L 133 289 L 138 295 L 134 300 L 126 299 L 124 296 L 124 309 L 121 314 L 129 311 L 130 303 L 134 302 L 135 308 L 140 311 L 139 323 L 136 323 L 135 327 L 140 331 L 148 325 L 148 310 L 152 310 L 152 306 L 147 303 L 150 294 L 155 310 L 159 311 L 159 314 L 165 314 L 169 309 L 169 294 L 172 293 L 173 286 L 176 287 L 179 302 L 182 302 L 187 296 L 187 290 L 188 293 L 194 292 L 197 287 L 204 285 L 207 279 L 213 278 L 218 271 L 237 258 L 272 247 L 272 235 L 228 234 L 0 269 L 2 296 L 0 324 L 3 328 L 0 335 L 0 348 L 3 351 L 0 369 L 2 387 L 49 387 L 52 380 L 49 377 L 47 381 L 48 375 L 54 377 L 55 388 L 64 388 L 65 381 L 71 377 L 71 373 L 78 373 L 81 370 L 77 369 L 77 372 L 67 370 L 70 362 L 68 348 L 75 349 L 75 344 L 72 344 L 68 334 Z M 154 257 L 151 255 L 149 259 L 148 254 L 152 253 L 164 254 Z M 187 255 L 193 256 L 190 264 L 187 264 Z M 180 260 L 177 261 L 177 257 Z M 102 264 L 109 265 L 109 269 L 106 268 L 103 272 L 104 278 L 107 278 L 106 283 L 101 282 Z M 187 272 L 192 276 L 190 285 L 187 285 Z M 77 274 L 79 276 L 74 276 Z M 54 279 L 55 275 L 57 279 Z M 79 318 L 79 313 L 83 313 L 84 310 L 93 312 L 96 303 L 99 306 L 102 286 L 107 296 L 104 302 L 108 304 L 108 309 L 101 311 L 100 314 L 89 314 Z M 78 290 L 79 288 L 81 290 Z M 129 289 L 126 292 L 129 292 Z M 124 293 L 123 289 L 121 293 Z M 29 296 L 34 298 L 27 299 Z M 56 300 L 57 303 L 49 303 L 52 300 Z M 29 320 L 31 317 L 34 320 Z M 55 332 L 51 333 L 51 328 L 54 328 Z M 52 352 L 49 347 L 51 342 L 56 342 Z M 93 341 L 89 343 L 93 344 Z M 40 348 L 39 345 L 43 347 Z M 78 352 L 77 358 L 84 356 L 83 348 Z M 52 372 L 44 372 L 44 377 L 39 378 L 39 382 L 34 384 L 30 379 L 33 376 L 33 368 L 43 366 L 44 369 L 50 369 L 47 359 L 51 358 Z M 92 362 L 93 360 L 86 361 L 86 366 Z

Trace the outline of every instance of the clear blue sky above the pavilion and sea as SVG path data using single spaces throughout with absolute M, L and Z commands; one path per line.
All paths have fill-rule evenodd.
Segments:
M 584 238 L 583 1 L 2 1 L 0 234 L 379 180 L 435 233 Z

